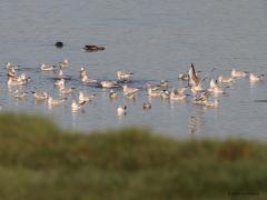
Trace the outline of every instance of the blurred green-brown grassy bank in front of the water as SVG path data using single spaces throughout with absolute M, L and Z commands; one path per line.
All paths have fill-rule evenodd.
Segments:
M 39 117 L 0 116 L 1 200 L 266 199 L 266 143 L 176 141 L 140 129 L 80 134 Z

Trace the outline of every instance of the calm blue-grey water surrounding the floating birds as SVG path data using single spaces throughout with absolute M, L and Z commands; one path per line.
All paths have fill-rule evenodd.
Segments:
M 57 49 L 55 41 L 65 42 Z M 85 52 L 85 44 L 106 47 L 105 51 Z M 175 137 L 267 138 L 267 82 L 250 84 L 239 79 L 219 96 L 219 107 L 207 109 L 187 101 L 148 101 L 147 83 L 168 80 L 172 87 L 186 86 L 177 79 L 195 63 L 197 70 L 214 77 L 229 74 L 233 68 L 267 74 L 266 0 L 1 0 L 0 2 L 0 103 L 6 111 L 42 113 L 65 129 L 95 130 L 125 126 L 149 127 Z M 59 97 L 53 72 L 40 71 L 41 63 L 57 63 L 65 58 L 70 66 L 65 76 L 67 87 L 76 92 L 62 107 L 48 109 L 12 97 L 7 84 L 4 63 L 20 66 L 31 77 L 26 91 L 47 90 Z M 115 102 L 108 90 L 85 86 L 79 69 L 86 67 L 95 79 L 116 80 L 116 71 L 135 72 L 132 86 L 144 88 L 135 101 L 126 100 L 121 90 Z M 208 86 L 208 81 L 205 82 Z M 70 103 L 78 91 L 96 93 L 85 112 L 72 113 Z M 188 91 L 189 92 L 189 91 Z M 125 117 L 117 107 L 127 104 Z

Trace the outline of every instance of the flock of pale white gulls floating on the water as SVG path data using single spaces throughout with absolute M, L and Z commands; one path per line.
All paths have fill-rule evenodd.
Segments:
M 57 71 L 57 78 L 55 80 L 55 86 L 58 90 L 59 97 L 52 97 L 48 91 L 39 91 L 36 88 L 36 91 L 24 91 L 23 87 L 26 84 L 30 84 L 30 77 L 28 77 L 24 72 L 19 73 L 21 70 L 19 66 L 12 64 L 8 62 L 6 64 L 7 70 L 7 84 L 8 87 L 16 88 L 12 93 L 14 99 L 23 99 L 29 93 L 32 93 L 32 97 L 36 101 L 46 102 L 49 108 L 59 107 L 66 103 L 66 99 L 70 97 L 70 94 L 77 92 L 78 99 L 72 97 L 72 101 L 70 104 L 70 110 L 72 112 L 78 112 L 83 109 L 87 102 L 93 101 L 97 96 L 93 93 L 85 93 L 83 91 L 77 91 L 76 88 L 67 88 L 66 79 L 63 78 L 63 70 L 70 67 L 70 62 L 68 59 L 65 59 L 62 62 L 58 64 L 40 64 L 40 70 L 46 71 Z M 215 70 L 215 69 L 214 69 Z M 236 79 L 248 78 L 250 83 L 261 81 L 264 79 L 264 74 L 256 74 L 247 71 L 237 71 L 233 69 L 229 76 L 218 76 L 217 79 L 212 76 L 212 72 L 209 77 L 201 78 L 201 71 L 196 71 L 195 66 L 191 63 L 188 67 L 188 71 L 186 73 L 178 74 L 178 79 L 185 82 L 185 87 L 182 88 L 174 88 L 169 84 L 168 81 L 161 80 L 157 84 L 147 84 L 147 96 L 149 97 L 148 102 L 144 102 L 142 109 L 150 110 L 152 108 L 150 99 L 160 98 L 165 101 L 185 101 L 189 99 L 192 104 L 197 104 L 205 108 L 217 108 L 219 106 L 218 96 L 226 93 L 226 90 L 229 86 L 235 82 Z M 18 72 L 19 71 L 19 72 Z M 118 93 L 122 92 L 123 97 L 127 99 L 135 99 L 140 88 L 135 88 L 131 86 L 131 81 L 134 80 L 134 72 L 126 71 L 116 71 L 117 79 L 116 80 L 97 80 L 89 78 L 86 68 L 80 68 L 79 78 L 80 82 L 91 87 L 99 87 L 107 89 L 109 91 L 110 100 L 117 100 Z M 209 81 L 209 88 L 204 88 L 204 82 Z M 121 104 L 117 107 L 117 114 L 125 116 L 127 113 L 127 106 Z

